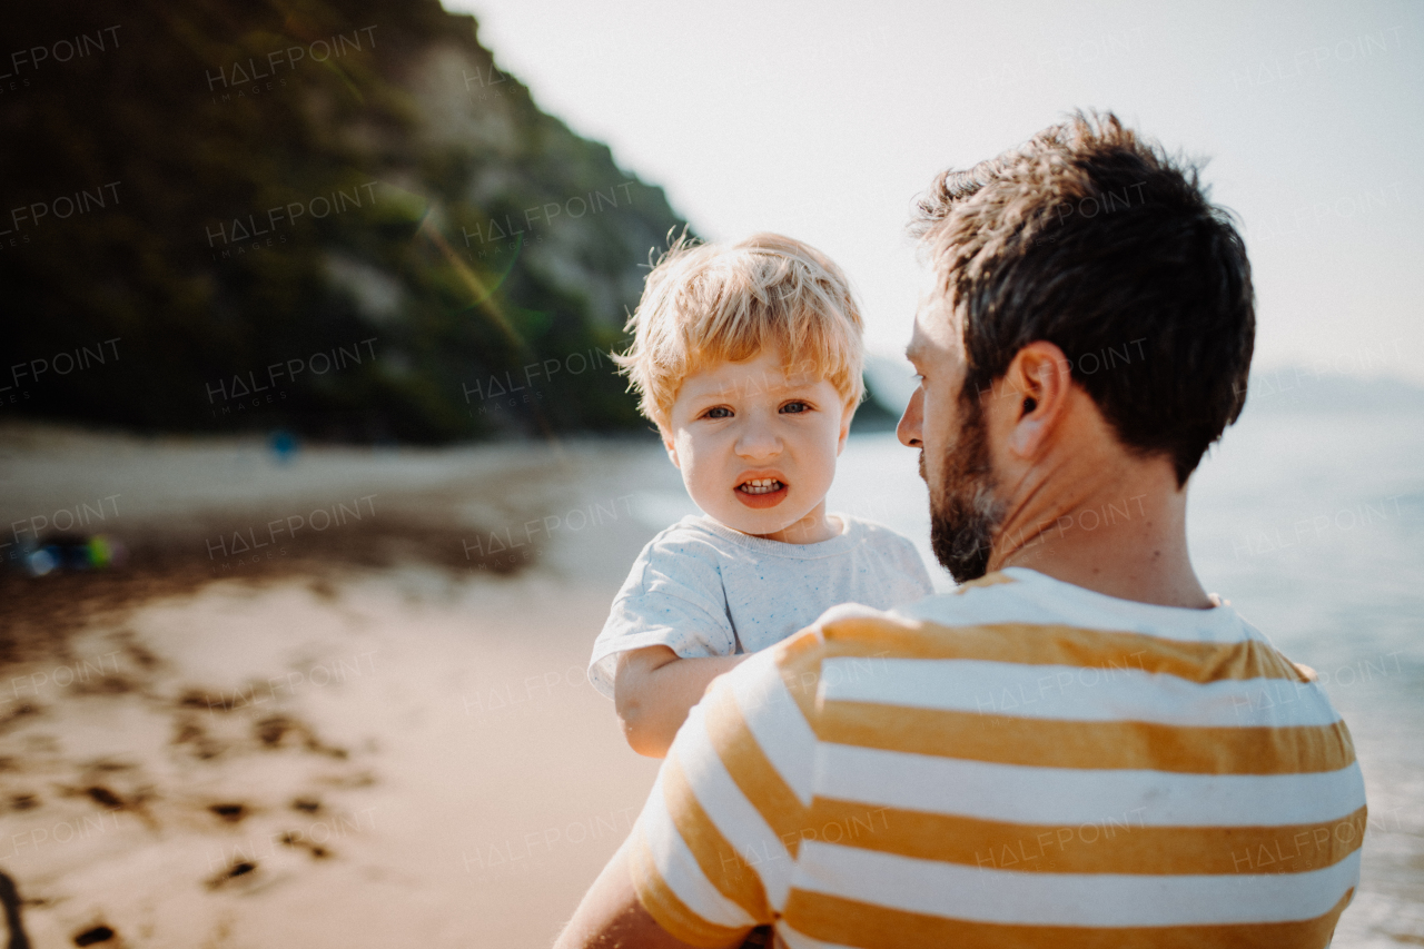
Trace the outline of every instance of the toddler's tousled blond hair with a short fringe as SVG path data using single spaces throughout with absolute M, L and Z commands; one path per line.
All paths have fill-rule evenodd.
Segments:
M 780 234 L 731 245 L 678 238 L 648 274 L 627 329 L 632 346 L 614 362 L 661 429 L 689 375 L 772 349 L 787 369 L 829 380 L 847 406 L 864 398 L 864 326 L 846 275 Z

